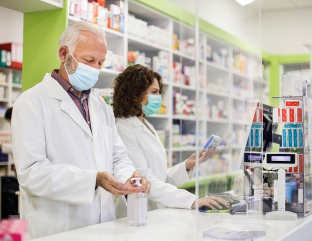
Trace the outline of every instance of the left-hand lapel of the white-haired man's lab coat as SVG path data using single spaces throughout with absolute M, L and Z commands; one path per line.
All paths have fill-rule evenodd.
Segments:
M 42 83 L 46 86 L 50 97 L 60 100 L 60 108 L 92 138 L 91 130 L 84 117 L 62 86 L 49 74 L 44 76 Z

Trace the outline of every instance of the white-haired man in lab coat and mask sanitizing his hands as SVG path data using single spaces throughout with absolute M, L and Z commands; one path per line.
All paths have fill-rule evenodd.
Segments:
M 69 25 L 59 41 L 59 70 L 21 94 L 12 115 L 12 147 L 21 186 L 20 215 L 30 237 L 115 218 L 114 195 L 143 191 L 117 135 L 114 114 L 91 88 L 105 61 L 105 32 Z

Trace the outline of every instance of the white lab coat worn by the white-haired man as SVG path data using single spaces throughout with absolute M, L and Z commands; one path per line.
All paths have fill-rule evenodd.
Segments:
M 134 171 L 102 97 L 91 94 L 91 130 L 49 74 L 21 94 L 12 116 L 12 149 L 21 186 L 21 218 L 40 237 L 115 218 L 114 196 L 95 189 L 98 171 L 125 182 Z

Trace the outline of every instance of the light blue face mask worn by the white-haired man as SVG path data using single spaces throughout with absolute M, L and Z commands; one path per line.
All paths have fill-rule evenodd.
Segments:
M 99 79 L 100 70 L 78 62 L 75 57 L 73 57 L 69 49 L 68 51 L 72 58 L 78 63 L 76 71 L 73 74 L 68 74 L 68 71 L 65 67 L 71 85 L 79 91 L 92 88 Z

